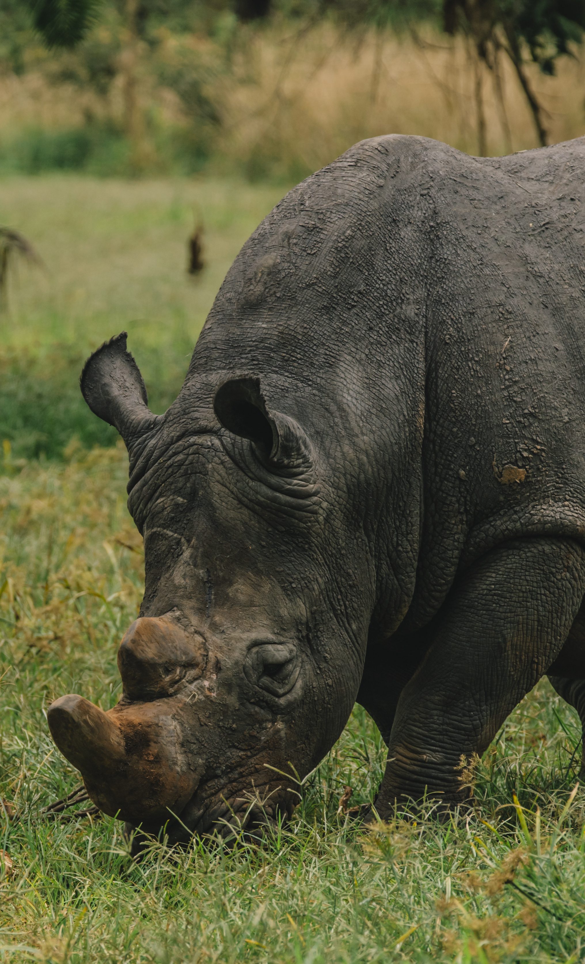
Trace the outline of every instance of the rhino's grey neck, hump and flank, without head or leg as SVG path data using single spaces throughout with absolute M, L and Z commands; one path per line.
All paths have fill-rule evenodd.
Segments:
M 585 534 L 584 167 L 583 139 L 362 142 L 254 232 L 199 337 L 174 416 L 262 377 L 371 543 L 388 632 L 499 542 Z

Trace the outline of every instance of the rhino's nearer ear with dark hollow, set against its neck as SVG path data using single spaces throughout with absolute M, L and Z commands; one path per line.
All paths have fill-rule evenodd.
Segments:
M 249 439 L 262 461 L 286 474 L 305 472 L 312 464 L 311 445 L 293 418 L 271 412 L 259 378 L 233 378 L 215 393 L 218 421 L 241 439 Z

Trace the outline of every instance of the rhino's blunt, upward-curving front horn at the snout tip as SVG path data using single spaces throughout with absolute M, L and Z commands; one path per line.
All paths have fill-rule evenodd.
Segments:
M 51 736 L 64 757 L 85 776 L 126 759 L 120 727 L 83 696 L 70 693 L 47 710 Z

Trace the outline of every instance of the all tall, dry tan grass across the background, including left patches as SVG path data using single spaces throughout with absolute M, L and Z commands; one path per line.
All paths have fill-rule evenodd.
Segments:
M 305 173 L 330 161 L 357 141 L 389 132 L 437 138 L 470 153 L 478 151 L 476 66 L 462 40 L 426 34 L 422 40 L 363 32 L 341 34 L 331 25 L 310 30 L 242 28 L 228 71 L 218 67 L 213 43 L 199 38 L 164 36 L 158 57 L 178 57 L 189 49 L 193 63 L 212 65 L 205 94 L 223 126 L 215 147 L 231 163 L 252 171 Z M 215 63 L 215 67 L 213 64 Z M 48 61 L 21 78 L 0 80 L 0 131 L 23 125 L 63 127 L 83 119 L 89 106 L 120 120 L 120 85 L 109 101 L 92 99 L 67 85 L 50 85 Z M 537 146 L 533 120 L 518 79 L 502 58 L 506 118 L 498 106 L 494 77 L 481 68 L 487 121 L 488 153 Z M 155 109 L 161 123 L 181 117 L 173 92 L 154 82 L 144 58 L 140 70 L 143 105 Z M 565 57 L 558 75 L 545 77 L 528 67 L 531 82 L 545 105 L 551 142 L 585 133 L 585 64 Z M 182 117 L 185 124 L 197 120 Z

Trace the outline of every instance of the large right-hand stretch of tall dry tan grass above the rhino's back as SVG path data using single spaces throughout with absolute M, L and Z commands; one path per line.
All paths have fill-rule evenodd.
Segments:
M 415 42 L 365 34 L 352 42 L 332 29 L 297 40 L 256 35 L 236 60 L 235 77 L 226 79 L 224 149 L 239 155 L 270 149 L 316 169 L 363 138 L 400 133 L 476 153 L 475 69 L 465 43 L 446 37 Z M 536 67 L 528 73 L 547 111 L 550 141 L 584 134 L 583 61 L 564 58 L 556 77 Z M 537 147 L 513 68 L 502 59 L 506 118 L 492 72 L 481 67 L 481 75 L 488 153 Z

